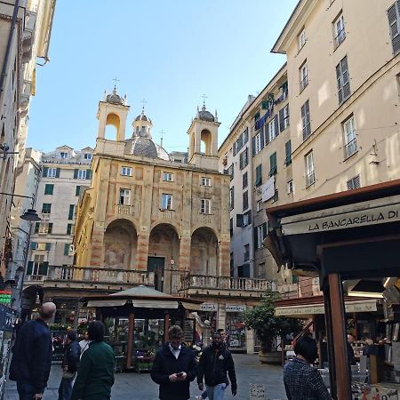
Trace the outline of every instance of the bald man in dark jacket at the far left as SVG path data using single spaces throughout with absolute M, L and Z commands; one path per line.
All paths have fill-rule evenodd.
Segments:
M 52 366 L 52 334 L 48 323 L 56 312 L 44 303 L 35 321 L 22 324 L 12 348 L 10 379 L 16 380 L 20 400 L 41 399 Z

